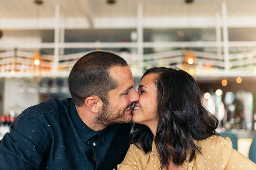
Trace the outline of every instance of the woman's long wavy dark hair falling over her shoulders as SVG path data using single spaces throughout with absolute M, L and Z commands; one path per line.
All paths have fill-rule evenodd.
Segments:
M 200 152 L 193 139 L 218 135 L 215 131 L 218 119 L 204 109 L 198 84 L 187 72 L 176 68 L 150 68 L 142 78 L 150 73 L 158 74 L 155 79 L 158 119 L 155 144 L 161 169 L 168 167 L 171 161 L 175 165 L 182 164 L 186 160 L 186 150 L 191 152 L 191 162 L 195 152 Z M 152 132 L 142 124 L 136 124 L 134 130 L 132 143 L 141 144 L 148 153 L 152 149 Z

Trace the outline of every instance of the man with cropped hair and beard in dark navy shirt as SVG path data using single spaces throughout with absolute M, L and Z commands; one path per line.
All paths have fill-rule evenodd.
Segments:
M 139 99 L 126 61 L 91 52 L 68 79 L 71 98 L 23 111 L 0 141 L 0 169 L 112 170 L 129 147 Z

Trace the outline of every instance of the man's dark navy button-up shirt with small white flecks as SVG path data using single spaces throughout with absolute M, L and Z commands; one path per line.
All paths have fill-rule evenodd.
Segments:
M 11 124 L 0 141 L 0 169 L 113 170 L 128 150 L 130 129 L 131 124 L 112 124 L 93 131 L 71 98 L 51 99 Z

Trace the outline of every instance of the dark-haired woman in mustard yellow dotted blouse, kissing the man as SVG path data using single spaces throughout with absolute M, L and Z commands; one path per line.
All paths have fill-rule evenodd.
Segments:
M 198 84 L 187 72 L 150 68 L 133 110 L 138 123 L 118 170 L 256 170 L 218 136 L 218 119 L 202 106 Z

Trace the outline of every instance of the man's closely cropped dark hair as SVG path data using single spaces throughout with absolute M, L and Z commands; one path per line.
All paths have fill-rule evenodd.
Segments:
M 108 92 L 117 87 L 110 76 L 110 68 L 128 66 L 127 62 L 116 54 L 95 51 L 81 57 L 73 66 L 68 77 L 70 94 L 76 106 L 81 107 L 89 96 L 98 96 L 108 102 Z

